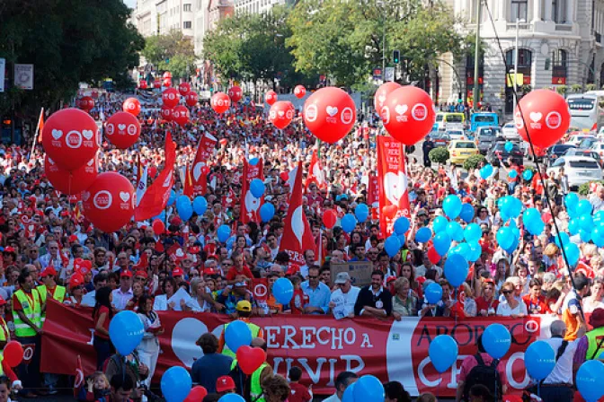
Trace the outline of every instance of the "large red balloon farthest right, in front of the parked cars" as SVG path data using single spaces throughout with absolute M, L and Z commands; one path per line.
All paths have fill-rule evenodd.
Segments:
M 535 146 L 547 148 L 557 143 L 566 133 L 571 124 L 571 114 L 561 95 L 547 90 L 535 90 L 528 92 L 518 102 L 514 123 L 524 141 L 529 142 L 530 135 L 530 141 Z

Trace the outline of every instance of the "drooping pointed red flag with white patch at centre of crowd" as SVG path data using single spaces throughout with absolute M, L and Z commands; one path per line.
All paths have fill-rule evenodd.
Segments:
M 289 197 L 288 216 L 285 218 L 285 227 L 279 250 L 288 252 L 291 264 L 303 266 L 306 264 L 304 251 L 306 249 L 315 250 L 315 247 L 313 232 L 310 230 L 302 205 L 302 162 L 298 162 L 294 191 Z

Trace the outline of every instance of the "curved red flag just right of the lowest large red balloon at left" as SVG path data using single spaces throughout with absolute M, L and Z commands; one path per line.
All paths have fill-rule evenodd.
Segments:
M 135 210 L 134 217 L 145 221 L 160 214 L 165 205 L 168 204 L 170 190 L 173 185 L 174 161 L 176 159 L 176 144 L 172 140 L 170 132 L 165 136 L 165 166 L 164 170 L 157 176 L 153 184 L 147 188 L 147 192 Z

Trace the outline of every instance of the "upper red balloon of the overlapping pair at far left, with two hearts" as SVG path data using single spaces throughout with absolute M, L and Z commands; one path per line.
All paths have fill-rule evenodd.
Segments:
M 42 130 L 44 151 L 63 170 L 73 171 L 93 159 L 99 149 L 99 129 L 80 109 L 53 113 Z

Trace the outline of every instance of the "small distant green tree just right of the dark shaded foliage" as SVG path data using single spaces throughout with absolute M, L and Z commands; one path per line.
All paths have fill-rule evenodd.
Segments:
M 191 38 L 181 31 L 147 38 L 141 52 L 159 71 L 170 71 L 173 78 L 189 78 L 195 73 L 195 50 Z

